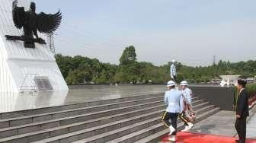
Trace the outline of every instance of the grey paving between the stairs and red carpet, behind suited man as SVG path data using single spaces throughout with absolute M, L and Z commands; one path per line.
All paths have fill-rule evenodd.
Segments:
M 247 138 L 256 138 L 256 106 L 250 110 L 247 123 Z M 202 134 L 237 136 L 235 130 L 235 112 L 220 111 L 213 116 L 197 122 L 191 132 Z

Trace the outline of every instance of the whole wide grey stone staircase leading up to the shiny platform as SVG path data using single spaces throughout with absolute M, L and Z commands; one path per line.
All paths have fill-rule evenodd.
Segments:
M 0 142 L 156 142 L 168 133 L 163 94 L 0 114 Z M 219 108 L 193 98 L 197 122 Z M 178 121 L 178 129 L 183 128 Z

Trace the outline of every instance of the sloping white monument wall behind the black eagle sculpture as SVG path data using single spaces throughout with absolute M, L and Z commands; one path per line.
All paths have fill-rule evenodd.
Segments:
M 30 2 L 19 0 L 18 6 L 27 9 Z M 23 30 L 14 26 L 11 8 L 11 0 L 0 1 L 0 93 L 69 90 L 53 53 L 46 45 L 36 43 L 35 49 L 29 49 L 24 48 L 23 41 L 5 39 L 5 35 L 23 35 Z M 46 40 L 46 37 L 39 36 Z

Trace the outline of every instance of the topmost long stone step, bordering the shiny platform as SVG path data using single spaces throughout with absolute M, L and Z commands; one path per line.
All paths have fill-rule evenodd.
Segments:
M 72 104 L 67 104 L 62 106 L 50 106 L 50 107 L 37 108 L 32 110 L 21 110 L 21 111 L 0 113 L 0 119 L 18 118 L 21 116 L 32 116 L 32 115 L 43 114 L 43 113 L 59 112 L 62 110 L 72 110 L 72 109 L 82 108 L 86 106 L 101 106 L 103 104 L 129 102 L 131 100 L 144 100 L 146 98 L 163 97 L 163 96 L 164 94 L 148 94 L 148 95 L 138 95 L 133 97 L 123 97 L 123 98 L 110 99 L 110 100 L 98 100 L 98 101 L 91 101 L 91 102 L 85 102 L 85 103 L 72 103 Z

